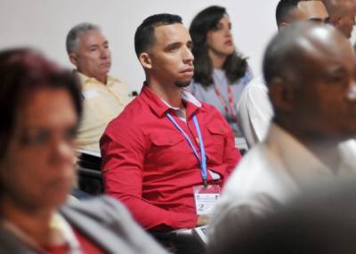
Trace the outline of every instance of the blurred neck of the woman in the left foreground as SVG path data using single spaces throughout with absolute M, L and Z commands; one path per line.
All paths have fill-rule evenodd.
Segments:
M 51 220 L 55 210 L 25 211 L 6 197 L 1 198 L 0 203 L 0 214 L 5 221 L 18 227 L 21 232 L 39 245 L 47 245 L 53 242 Z

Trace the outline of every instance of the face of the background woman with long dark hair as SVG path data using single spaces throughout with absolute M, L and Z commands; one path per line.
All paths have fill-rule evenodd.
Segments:
M 219 56 L 230 56 L 234 52 L 231 36 L 231 22 L 228 15 L 223 15 L 216 28 L 207 32 L 206 44 L 209 53 Z

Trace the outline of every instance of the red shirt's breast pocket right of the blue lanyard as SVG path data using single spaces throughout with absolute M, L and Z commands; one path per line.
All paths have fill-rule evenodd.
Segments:
M 210 163 L 223 163 L 223 155 L 225 150 L 225 140 L 228 135 L 228 130 L 221 126 L 207 126 L 209 139 L 206 140 L 206 156 Z

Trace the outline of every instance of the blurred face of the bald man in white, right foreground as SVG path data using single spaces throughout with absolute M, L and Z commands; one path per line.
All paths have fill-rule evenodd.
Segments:
M 348 40 L 338 37 L 307 52 L 295 117 L 312 135 L 350 139 L 356 135 L 356 59 Z

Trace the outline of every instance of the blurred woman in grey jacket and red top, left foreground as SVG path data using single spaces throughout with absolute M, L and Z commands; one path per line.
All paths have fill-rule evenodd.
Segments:
M 64 204 L 82 101 L 38 52 L 0 52 L 0 253 L 166 253 L 109 197 Z

